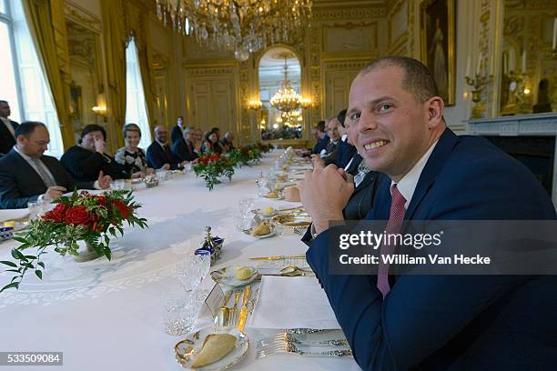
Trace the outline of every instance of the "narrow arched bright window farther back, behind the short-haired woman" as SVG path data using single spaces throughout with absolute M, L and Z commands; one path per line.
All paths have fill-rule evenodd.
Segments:
M 141 129 L 139 146 L 151 144 L 151 129 L 147 119 L 145 94 L 137 56 L 136 41 L 132 37 L 126 48 L 126 124 L 134 123 Z

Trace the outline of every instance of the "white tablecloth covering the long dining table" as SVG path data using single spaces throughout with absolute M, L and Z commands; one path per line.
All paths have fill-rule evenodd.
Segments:
M 163 330 L 161 293 L 176 285 L 176 264 L 200 246 L 206 226 L 225 238 L 222 256 L 211 270 L 247 265 L 252 256 L 307 250 L 297 234 L 255 239 L 236 227 L 242 197 L 254 197 L 258 206 L 299 206 L 256 195 L 255 178 L 269 169 L 277 155 L 269 153 L 258 165 L 238 168 L 231 182 L 218 184 L 211 192 L 193 173 L 137 189 L 135 197 L 142 204 L 138 214 L 147 218 L 148 228 L 127 227 L 125 236 L 114 238 L 111 261 L 101 257 L 79 263 L 72 256 L 51 252 L 43 259 L 43 281 L 31 272 L 19 290 L 0 294 L 0 352 L 63 352 L 64 365 L 55 369 L 181 369 L 174 346 L 184 336 L 169 336 Z M 0 260 L 10 260 L 15 246 L 14 240 L 0 243 Z M 8 279 L 0 274 L 0 284 Z M 206 278 L 202 285 L 210 289 L 213 283 Z M 209 321 L 200 318 L 197 326 L 208 326 Z M 256 359 L 255 343 L 277 332 L 248 326 L 251 346 L 232 369 L 360 369 L 352 358 L 289 354 Z

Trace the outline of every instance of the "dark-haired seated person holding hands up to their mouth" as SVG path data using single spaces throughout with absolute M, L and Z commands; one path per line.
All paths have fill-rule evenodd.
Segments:
M 106 131 L 103 126 L 86 125 L 77 145 L 70 147 L 60 162 L 67 172 L 81 182 L 93 182 L 102 171 L 113 179 L 128 178 L 123 165 L 106 154 Z

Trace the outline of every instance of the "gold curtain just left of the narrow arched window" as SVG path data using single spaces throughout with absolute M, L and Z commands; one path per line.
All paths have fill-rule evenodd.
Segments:
M 108 80 L 106 109 L 114 118 L 117 143 L 122 146 L 121 132 L 126 120 L 126 14 L 122 0 L 102 0 L 101 6 Z

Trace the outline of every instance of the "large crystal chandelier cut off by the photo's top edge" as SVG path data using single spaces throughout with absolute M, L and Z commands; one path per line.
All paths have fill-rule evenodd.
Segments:
M 239 61 L 267 45 L 293 44 L 309 25 L 312 0 L 157 0 L 165 25 Z

